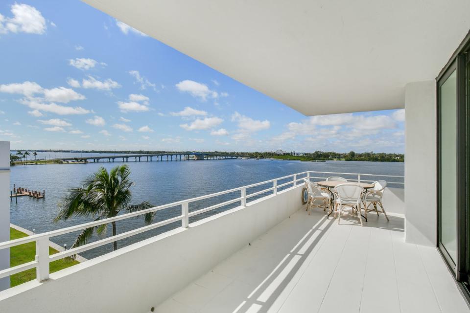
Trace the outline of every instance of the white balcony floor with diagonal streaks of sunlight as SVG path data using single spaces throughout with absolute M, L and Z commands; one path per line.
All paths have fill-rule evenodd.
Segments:
M 404 242 L 402 216 L 368 217 L 300 210 L 155 311 L 470 312 L 436 248 Z

